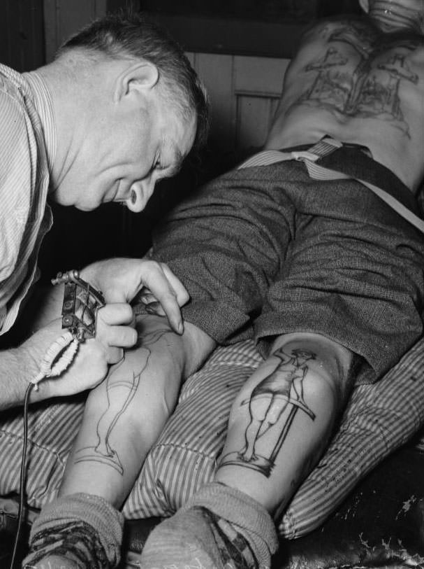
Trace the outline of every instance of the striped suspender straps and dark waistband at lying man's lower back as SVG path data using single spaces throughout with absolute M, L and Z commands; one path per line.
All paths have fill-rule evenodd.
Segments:
M 351 154 L 353 152 L 354 156 Z M 326 137 L 307 150 L 286 152 L 264 150 L 243 162 L 239 168 L 267 166 L 285 160 L 304 162 L 309 176 L 315 180 L 350 179 L 362 183 L 397 211 L 400 216 L 424 232 L 424 220 L 419 217 L 414 195 L 400 182 L 399 178 L 386 167 L 367 157 L 365 153 L 358 153 L 357 148 L 349 148 L 337 140 Z M 388 180 L 387 190 L 379 187 L 379 181 L 376 179 L 379 176 L 379 169 L 383 171 L 384 178 Z

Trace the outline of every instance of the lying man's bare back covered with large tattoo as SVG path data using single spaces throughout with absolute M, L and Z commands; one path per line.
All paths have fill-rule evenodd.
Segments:
M 303 38 L 265 148 L 329 134 L 370 148 L 413 192 L 424 176 L 424 39 L 371 20 L 327 20 Z

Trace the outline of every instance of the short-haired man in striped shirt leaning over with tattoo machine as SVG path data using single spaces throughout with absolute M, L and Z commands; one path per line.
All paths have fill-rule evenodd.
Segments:
M 0 409 L 8 409 L 22 404 L 61 332 L 58 287 L 22 344 L 8 344 L 8 332 L 25 325 L 38 251 L 52 225 L 48 202 L 83 211 L 122 202 L 141 211 L 155 183 L 175 174 L 205 139 L 208 109 L 180 47 L 141 15 L 92 23 L 36 71 L 0 65 L 0 109 Z M 187 292 L 162 263 L 101 261 L 80 276 L 107 302 L 98 310 L 96 335 L 81 344 L 63 376 L 41 382 L 33 402 L 84 391 L 105 377 L 136 343 L 129 302 L 142 287 L 182 332 Z

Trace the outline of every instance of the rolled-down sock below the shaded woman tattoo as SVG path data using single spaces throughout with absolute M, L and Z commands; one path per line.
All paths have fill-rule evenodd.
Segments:
M 142 550 L 143 568 L 256 569 L 270 567 L 275 525 L 261 504 L 212 482 L 154 528 Z

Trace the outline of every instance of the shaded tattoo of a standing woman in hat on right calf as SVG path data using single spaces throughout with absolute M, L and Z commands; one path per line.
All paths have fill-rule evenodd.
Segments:
M 242 464 L 269 477 L 298 410 L 306 413 L 312 421 L 315 419 L 303 398 L 303 381 L 309 370 L 307 362 L 314 360 L 315 354 L 305 349 L 293 349 L 288 355 L 281 348 L 273 356 L 279 360 L 275 370 L 241 404 L 249 405 L 244 446 L 237 453 L 223 456 L 221 466 Z M 268 437 L 265 437 L 267 433 Z

